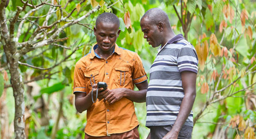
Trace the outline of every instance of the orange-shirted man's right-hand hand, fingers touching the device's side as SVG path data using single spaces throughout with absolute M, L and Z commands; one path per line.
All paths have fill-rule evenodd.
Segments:
M 109 94 L 104 99 L 104 102 L 108 101 L 109 104 L 113 104 L 116 101 L 119 101 L 121 98 L 125 96 L 126 89 L 127 88 L 116 88 L 116 89 L 110 90 Z

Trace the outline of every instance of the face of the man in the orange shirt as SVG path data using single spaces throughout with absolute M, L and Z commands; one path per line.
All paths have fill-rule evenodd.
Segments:
M 93 31 L 100 51 L 108 52 L 112 50 L 112 47 L 115 47 L 116 39 L 120 33 L 118 25 L 100 22 Z

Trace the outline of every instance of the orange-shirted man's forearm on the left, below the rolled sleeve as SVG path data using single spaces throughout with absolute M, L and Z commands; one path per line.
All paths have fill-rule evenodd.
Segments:
M 95 100 L 95 96 L 93 98 Z M 75 99 L 75 106 L 76 106 L 76 110 L 79 113 L 82 113 L 83 111 L 87 110 L 88 108 L 90 108 L 92 106 L 92 95 L 91 92 L 89 94 L 87 94 L 86 96 L 83 97 L 77 97 Z

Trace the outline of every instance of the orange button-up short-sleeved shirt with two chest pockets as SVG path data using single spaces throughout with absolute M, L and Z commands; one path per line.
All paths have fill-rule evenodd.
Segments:
M 76 62 L 73 92 L 89 94 L 92 85 L 106 82 L 109 89 L 134 89 L 134 84 L 147 80 L 142 61 L 137 53 L 115 45 L 115 50 L 106 60 L 95 53 L 94 45 L 89 54 Z M 107 136 L 124 133 L 138 126 L 133 101 L 122 98 L 114 104 L 96 101 L 87 110 L 85 133 L 91 136 Z

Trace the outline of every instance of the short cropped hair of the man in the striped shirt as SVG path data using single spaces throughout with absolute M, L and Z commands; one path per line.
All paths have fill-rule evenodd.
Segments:
M 168 15 L 160 8 L 152 8 L 148 10 L 142 17 L 147 17 L 152 24 L 158 24 L 160 21 L 164 24 L 170 25 Z

